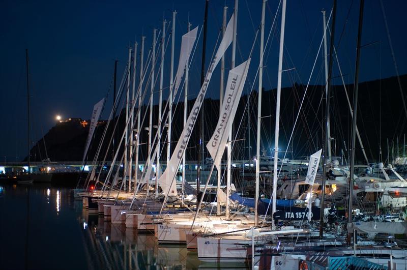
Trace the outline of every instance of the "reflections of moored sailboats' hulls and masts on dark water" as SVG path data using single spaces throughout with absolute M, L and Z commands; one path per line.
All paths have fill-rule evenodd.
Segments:
M 124 224 L 112 224 L 103 216 L 83 209 L 83 233 L 89 260 L 96 269 L 197 269 L 196 255 L 188 255 L 186 247 L 159 246 L 154 235 L 141 235 Z

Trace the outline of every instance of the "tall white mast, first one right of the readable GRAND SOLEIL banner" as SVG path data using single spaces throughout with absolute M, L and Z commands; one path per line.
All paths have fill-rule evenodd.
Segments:
M 257 107 L 257 138 L 256 138 L 256 194 L 254 198 L 254 225 L 258 225 L 258 185 L 260 180 L 260 134 L 261 134 L 261 92 L 263 87 L 263 51 L 264 51 L 264 21 L 266 12 L 266 1 L 263 0 L 261 8 L 260 29 L 260 63 L 258 70 L 258 107 Z M 250 131 L 249 131 L 250 132 Z

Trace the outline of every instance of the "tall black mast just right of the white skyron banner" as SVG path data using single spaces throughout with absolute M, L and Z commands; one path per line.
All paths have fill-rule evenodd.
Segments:
M 335 22 L 336 22 L 336 0 L 334 0 L 333 6 L 333 15 L 332 15 L 332 34 L 329 47 L 329 73 L 328 73 L 328 88 L 327 88 L 327 101 L 325 106 L 325 117 L 326 117 L 326 126 L 325 126 L 325 142 L 322 149 L 322 196 L 321 196 L 321 219 L 319 220 L 319 237 L 324 236 L 324 201 L 325 201 L 325 182 L 327 174 L 327 151 L 330 144 L 329 143 L 329 110 L 330 110 L 330 99 L 331 99 L 331 78 L 332 78 L 332 64 L 333 64 L 333 54 L 334 54 L 334 41 L 335 41 Z M 326 33 L 324 33 L 325 35 Z

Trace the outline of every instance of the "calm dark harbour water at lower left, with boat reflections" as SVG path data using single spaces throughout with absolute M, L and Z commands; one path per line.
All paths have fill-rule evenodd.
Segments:
M 70 189 L 0 183 L 0 269 L 202 266 L 186 247 L 158 246 L 154 235 L 89 214 Z

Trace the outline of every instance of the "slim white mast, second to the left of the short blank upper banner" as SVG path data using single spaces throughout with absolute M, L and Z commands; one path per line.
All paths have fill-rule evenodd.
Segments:
M 162 87 L 164 82 L 164 43 L 165 43 L 165 24 L 167 21 L 162 21 L 162 36 L 161 36 L 161 66 L 160 66 L 160 91 L 158 99 L 158 122 L 161 121 L 162 114 Z M 161 125 L 158 125 L 158 141 L 157 141 L 157 166 L 156 166 L 156 195 L 158 195 L 158 178 L 160 177 L 160 147 L 161 147 Z

